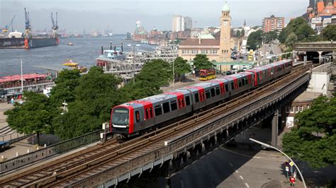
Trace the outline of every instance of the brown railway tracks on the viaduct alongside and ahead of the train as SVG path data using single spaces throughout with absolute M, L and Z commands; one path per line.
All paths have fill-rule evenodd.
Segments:
M 225 102 L 210 110 L 194 114 L 180 122 L 152 131 L 125 143 L 118 143 L 116 139 L 112 139 L 103 145 L 79 151 L 79 153 L 46 163 L 20 175 L 13 175 L 6 178 L 6 180 L 1 180 L 0 187 L 65 187 L 102 170 L 121 163 L 127 163 L 128 160 L 144 155 L 149 151 L 155 150 L 155 148 L 162 147 L 165 140 L 182 136 L 191 131 L 191 129 L 196 128 L 197 124 L 210 121 L 218 114 L 228 112 L 228 110 L 232 110 L 242 102 L 247 102 L 256 96 L 266 95 L 267 92 L 271 92 L 271 88 L 279 86 L 284 81 L 288 81 L 302 72 L 303 68 L 296 66 L 291 74 L 262 88 L 257 88 L 250 93 L 245 93 L 238 98 L 230 100 L 230 102 Z

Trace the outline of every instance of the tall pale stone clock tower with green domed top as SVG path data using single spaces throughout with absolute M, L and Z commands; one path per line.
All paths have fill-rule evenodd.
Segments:
M 230 8 L 225 1 L 220 16 L 220 61 L 230 61 L 230 40 L 231 40 L 231 17 Z

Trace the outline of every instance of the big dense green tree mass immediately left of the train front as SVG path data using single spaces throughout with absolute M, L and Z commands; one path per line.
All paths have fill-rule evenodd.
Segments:
M 88 74 L 79 78 L 74 102 L 68 102 L 68 112 L 55 117 L 55 134 L 70 139 L 101 129 L 101 124 L 111 117 L 111 107 L 125 102 L 118 90 L 121 81 L 113 74 L 103 74 L 99 67 L 91 67 Z

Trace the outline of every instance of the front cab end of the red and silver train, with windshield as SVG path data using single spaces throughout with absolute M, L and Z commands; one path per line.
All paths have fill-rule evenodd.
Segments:
M 127 136 L 133 132 L 133 107 L 116 106 L 113 107 L 110 120 L 110 132 Z

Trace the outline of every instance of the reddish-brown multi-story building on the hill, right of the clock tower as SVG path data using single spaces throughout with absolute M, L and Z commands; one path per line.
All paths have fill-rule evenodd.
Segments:
M 272 15 L 269 18 L 262 19 L 262 31 L 264 33 L 276 30 L 279 34 L 281 33 L 281 30 L 284 29 L 284 25 L 284 17 L 275 17 L 274 15 Z

